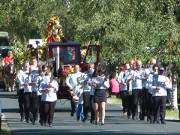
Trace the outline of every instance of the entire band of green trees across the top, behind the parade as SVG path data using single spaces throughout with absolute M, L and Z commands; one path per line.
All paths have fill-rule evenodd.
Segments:
M 175 0 L 1 0 L 0 30 L 24 48 L 30 38 L 46 38 L 47 21 L 57 15 L 65 37 L 100 44 L 113 64 L 133 57 L 169 61 L 169 33 L 172 53 L 180 43 L 177 7 Z

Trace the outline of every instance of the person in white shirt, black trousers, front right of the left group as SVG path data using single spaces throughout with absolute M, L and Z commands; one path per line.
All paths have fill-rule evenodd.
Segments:
M 50 127 L 53 123 L 55 105 L 57 101 L 58 82 L 53 79 L 50 69 L 46 72 L 46 75 L 42 78 L 39 90 L 42 92 L 42 125 L 48 124 Z

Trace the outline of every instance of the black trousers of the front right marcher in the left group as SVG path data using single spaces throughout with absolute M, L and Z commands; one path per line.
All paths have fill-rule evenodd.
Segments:
M 42 101 L 43 104 L 43 112 L 42 112 L 42 121 L 43 123 L 52 124 L 54 111 L 55 111 L 55 102 Z

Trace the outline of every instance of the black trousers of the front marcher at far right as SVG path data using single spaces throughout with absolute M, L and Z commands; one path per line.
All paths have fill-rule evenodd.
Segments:
M 154 122 L 165 122 L 166 96 L 155 96 L 154 103 Z

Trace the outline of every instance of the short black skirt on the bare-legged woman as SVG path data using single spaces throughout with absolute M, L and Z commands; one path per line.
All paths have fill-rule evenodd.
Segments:
M 94 102 L 95 103 L 106 102 L 106 90 L 105 89 L 95 89 Z

